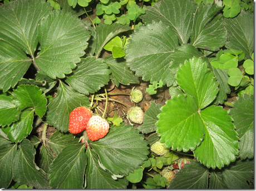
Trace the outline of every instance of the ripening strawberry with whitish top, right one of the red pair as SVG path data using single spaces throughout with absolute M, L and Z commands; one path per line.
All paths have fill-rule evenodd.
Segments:
M 87 123 L 86 133 L 92 141 L 104 138 L 109 133 L 109 123 L 100 116 L 92 116 Z

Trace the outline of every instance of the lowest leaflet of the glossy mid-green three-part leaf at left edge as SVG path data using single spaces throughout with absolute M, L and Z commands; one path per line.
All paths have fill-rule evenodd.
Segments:
M 9 127 L 2 128 L 12 142 L 21 142 L 28 134 L 31 133 L 33 118 L 33 110 L 25 110 L 21 114 L 21 119 L 12 123 Z

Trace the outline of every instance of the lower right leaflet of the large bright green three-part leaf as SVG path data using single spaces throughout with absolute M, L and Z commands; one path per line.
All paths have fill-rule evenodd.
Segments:
M 204 140 L 193 151 L 198 161 L 208 168 L 222 168 L 235 160 L 239 153 L 239 142 L 232 118 L 221 106 L 211 105 L 201 110 L 205 124 Z

